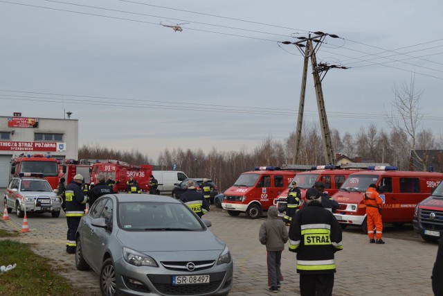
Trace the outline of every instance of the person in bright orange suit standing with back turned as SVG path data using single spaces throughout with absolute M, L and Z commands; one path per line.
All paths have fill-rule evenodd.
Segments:
M 383 223 L 381 222 L 381 204 L 383 200 L 380 198 L 377 192 L 377 185 L 370 184 L 368 190 L 364 193 L 363 202 L 366 205 L 366 219 L 368 223 L 368 236 L 369 243 L 383 244 L 385 243 L 381 239 L 383 234 Z M 374 228 L 376 230 L 374 240 Z

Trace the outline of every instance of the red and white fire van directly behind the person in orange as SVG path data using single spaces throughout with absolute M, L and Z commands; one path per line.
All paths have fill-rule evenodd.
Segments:
M 443 173 L 397 171 L 396 166 L 370 166 L 368 169 L 370 171 L 349 175 L 339 191 L 332 195 L 339 204 L 334 216 L 343 229 L 353 225 L 368 232 L 363 195 L 372 183 L 377 185 L 383 200 L 383 223 L 403 225 L 413 221 L 415 206 L 443 180 Z

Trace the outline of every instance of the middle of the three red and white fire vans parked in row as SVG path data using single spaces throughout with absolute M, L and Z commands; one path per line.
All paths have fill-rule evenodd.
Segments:
M 347 177 L 355 173 L 355 169 L 342 169 L 341 166 L 327 165 L 327 166 L 312 166 L 310 171 L 297 173 L 296 177 L 293 178 L 297 182 L 297 187 L 300 189 L 302 203 L 300 208 L 305 202 L 305 194 L 307 189 L 314 186 L 316 182 L 322 182 L 325 184 L 325 193 L 332 196 L 338 191 L 340 186 L 345 182 Z M 284 208 L 287 204 L 287 196 L 291 189 L 291 182 L 287 189 L 282 191 L 280 195 L 274 200 L 274 204 L 280 209 Z M 279 216 L 284 216 L 284 212 L 279 212 Z

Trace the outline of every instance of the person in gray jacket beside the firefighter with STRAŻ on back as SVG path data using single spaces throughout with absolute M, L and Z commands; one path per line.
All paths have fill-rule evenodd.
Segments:
M 278 216 L 275 206 L 269 207 L 268 220 L 262 223 L 258 238 L 262 245 L 266 245 L 268 263 L 268 286 L 269 291 L 278 292 L 280 281 L 283 280 L 280 270 L 284 243 L 288 241 L 288 230 L 284 222 Z

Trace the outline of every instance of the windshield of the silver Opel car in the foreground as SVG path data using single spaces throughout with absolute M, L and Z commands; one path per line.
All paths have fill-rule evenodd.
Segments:
M 204 230 L 185 204 L 172 202 L 120 202 L 118 225 L 127 231 Z

